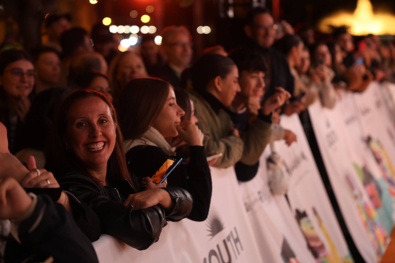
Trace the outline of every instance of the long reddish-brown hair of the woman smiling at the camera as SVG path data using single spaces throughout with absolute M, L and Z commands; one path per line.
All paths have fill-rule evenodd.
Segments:
M 107 178 L 109 179 L 127 179 L 130 181 L 128 168 L 126 166 L 125 153 L 123 148 L 123 138 L 120 130 L 119 121 L 113 104 L 107 99 L 105 95 L 94 90 L 77 90 L 71 93 L 66 99 L 63 100 L 62 104 L 56 112 L 53 130 L 48 148 L 46 152 L 46 164 L 45 167 L 48 170 L 56 170 L 59 168 L 71 168 L 83 175 L 89 177 L 98 185 L 100 181 L 94 177 L 88 169 L 73 155 L 73 153 L 66 150 L 64 144 L 64 138 L 66 138 L 66 126 L 67 126 L 67 115 L 70 111 L 71 106 L 80 99 L 86 99 L 90 97 L 99 97 L 102 99 L 110 108 L 111 117 L 113 118 L 116 126 L 117 137 L 115 139 L 115 147 L 111 153 L 110 158 L 107 161 Z

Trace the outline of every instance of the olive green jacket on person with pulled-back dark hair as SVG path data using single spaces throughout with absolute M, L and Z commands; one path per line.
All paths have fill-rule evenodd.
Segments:
M 239 161 L 247 165 L 258 162 L 269 143 L 271 123 L 257 118 L 246 132 L 240 134 L 241 138 L 229 135 L 229 130 L 234 126 L 225 109 L 220 109 L 216 114 L 210 104 L 196 91 L 188 91 L 188 95 L 195 106 L 198 127 L 204 134 L 203 145 L 206 155 L 222 153 L 222 157 L 214 166 L 226 168 Z

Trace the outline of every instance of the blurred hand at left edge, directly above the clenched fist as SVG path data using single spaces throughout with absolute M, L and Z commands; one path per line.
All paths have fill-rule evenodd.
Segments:
M 11 153 L 0 153 L 0 177 L 13 177 L 21 181 L 29 172 L 17 157 Z

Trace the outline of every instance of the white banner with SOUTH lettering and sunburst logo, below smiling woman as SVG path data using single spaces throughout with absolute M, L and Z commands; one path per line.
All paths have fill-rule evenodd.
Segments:
M 138 251 L 103 235 L 94 242 L 100 262 L 263 262 L 241 202 L 233 167 L 211 168 L 213 196 L 207 220 L 169 222 L 158 242 Z

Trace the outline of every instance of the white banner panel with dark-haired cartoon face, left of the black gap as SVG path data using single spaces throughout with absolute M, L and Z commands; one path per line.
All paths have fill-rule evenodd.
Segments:
M 353 262 L 298 116 L 282 116 L 281 125 L 297 136 L 290 147 L 275 142 L 275 151 L 290 174 L 287 197 L 309 250 L 317 262 Z

